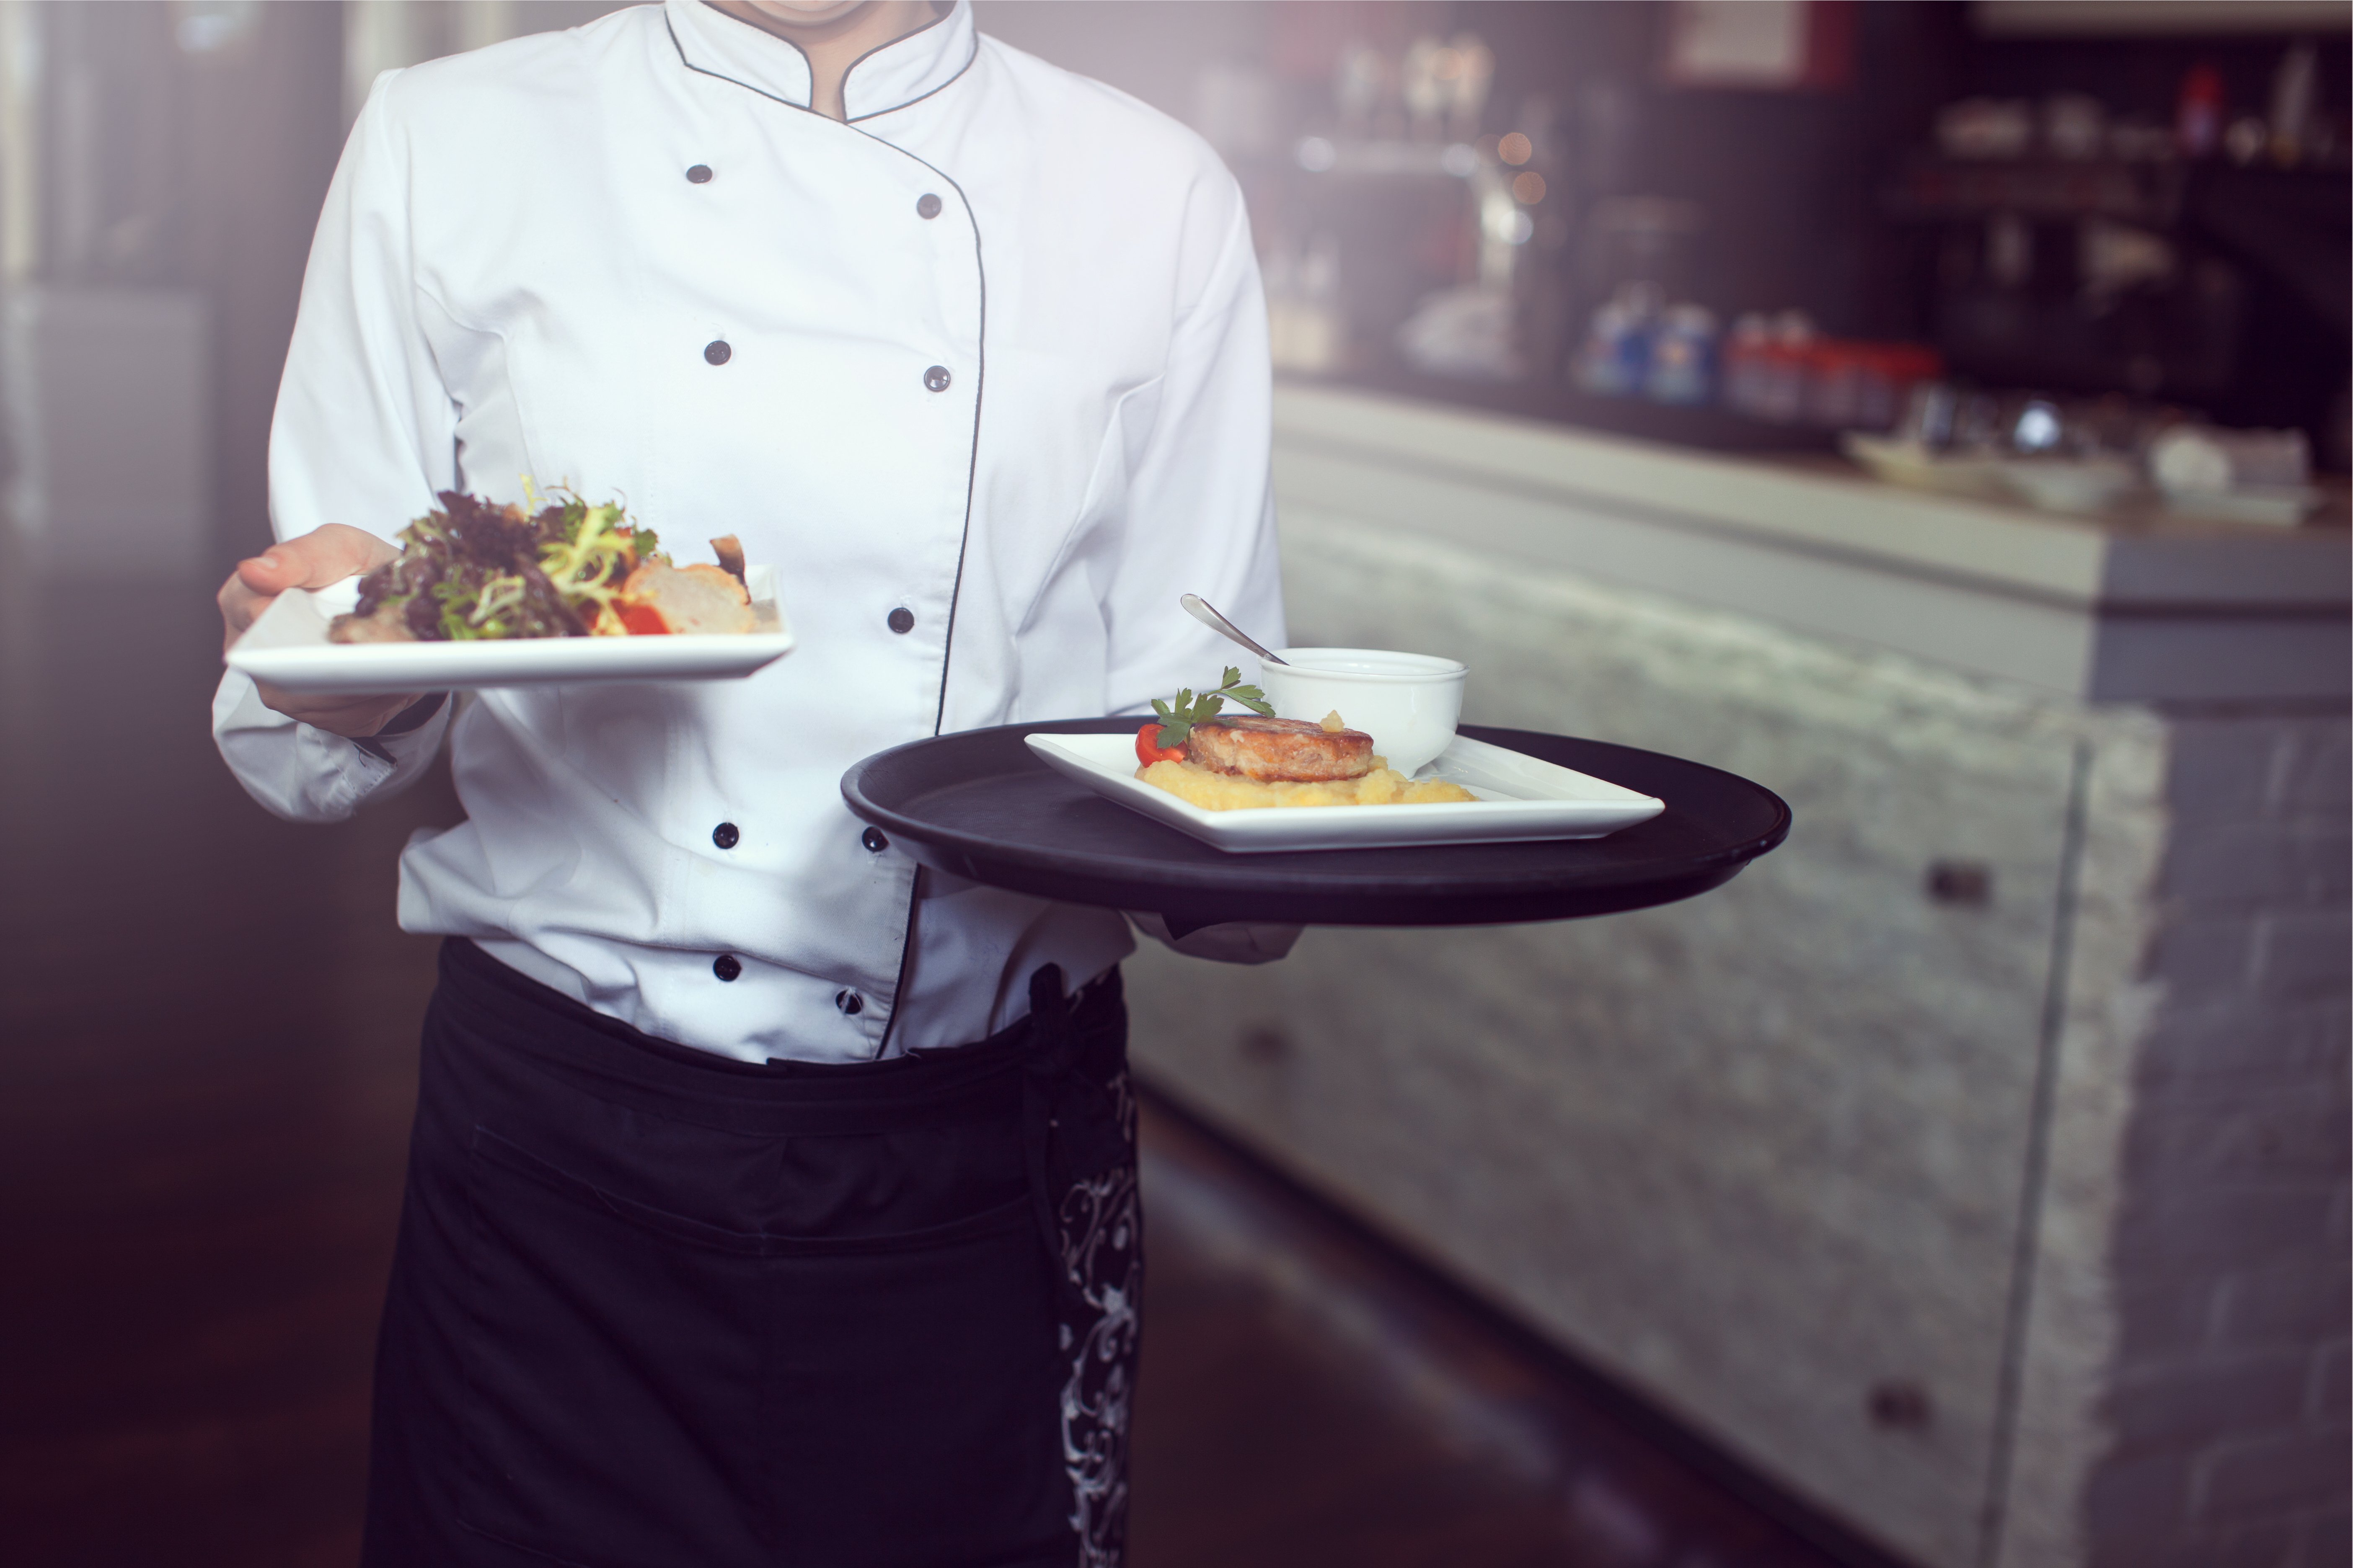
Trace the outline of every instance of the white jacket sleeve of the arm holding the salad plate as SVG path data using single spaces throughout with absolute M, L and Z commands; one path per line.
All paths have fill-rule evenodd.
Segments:
M 344 522 L 391 538 L 456 484 L 456 407 L 419 324 L 409 172 L 391 113 L 398 71 L 376 78 L 327 188 L 287 369 L 271 418 L 271 531 Z M 261 705 L 254 682 L 221 675 L 212 736 L 247 795 L 294 820 L 341 820 L 433 762 L 449 705 L 374 743 L 299 724 Z

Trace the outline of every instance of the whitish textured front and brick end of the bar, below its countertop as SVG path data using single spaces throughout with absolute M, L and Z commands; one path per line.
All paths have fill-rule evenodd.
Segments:
M 1144 954 L 1162 1084 L 1915 1561 L 2344 1559 L 2341 715 L 2085 708 L 1297 503 L 1285 552 L 1299 639 L 1798 827 L 1666 910 Z

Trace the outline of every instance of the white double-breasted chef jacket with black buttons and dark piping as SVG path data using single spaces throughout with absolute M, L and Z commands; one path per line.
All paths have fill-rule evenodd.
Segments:
M 861 842 L 852 762 L 1214 682 L 1184 590 L 1282 637 L 1233 176 L 965 0 L 842 96 L 847 125 L 812 113 L 800 49 L 699 0 L 386 73 L 271 428 L 280 538 L 532 475 L 678 559 L 736 534 L 781 569 L 800 646 L 751 679 L 459 705 L 466 820 L 400 860 L 402 929 L 746 1060 L 972 1041 L 1038 964 L 1132 950 L 1108 910 L 918 884 Z M 447 724 L 360 745 L 235 672 L 214 701 L 245 788 L 306 820 L 409 783 Z

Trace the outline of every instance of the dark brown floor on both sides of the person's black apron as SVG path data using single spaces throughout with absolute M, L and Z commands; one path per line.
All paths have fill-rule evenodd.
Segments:
M 212 752 L 205 592 L 0 590 L 0 1556 L 355 1559 L 447 785 L 292 827 Z M 1167 1110 L 1136 1568 L 1833 1561 Z

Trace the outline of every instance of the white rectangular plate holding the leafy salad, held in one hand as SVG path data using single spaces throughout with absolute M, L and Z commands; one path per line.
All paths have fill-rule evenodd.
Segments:
M 753 611 L 774 630 L 696 637 L 515 637 L 485 642 L 327 642 L 327 623 L 360 602 L 360 578 L 278 595 L 228 668 L 285 691 L 473 691 L 649 679 L 741 679 L 793 651 L 776 607 L 776 569 L 746 567 Z

